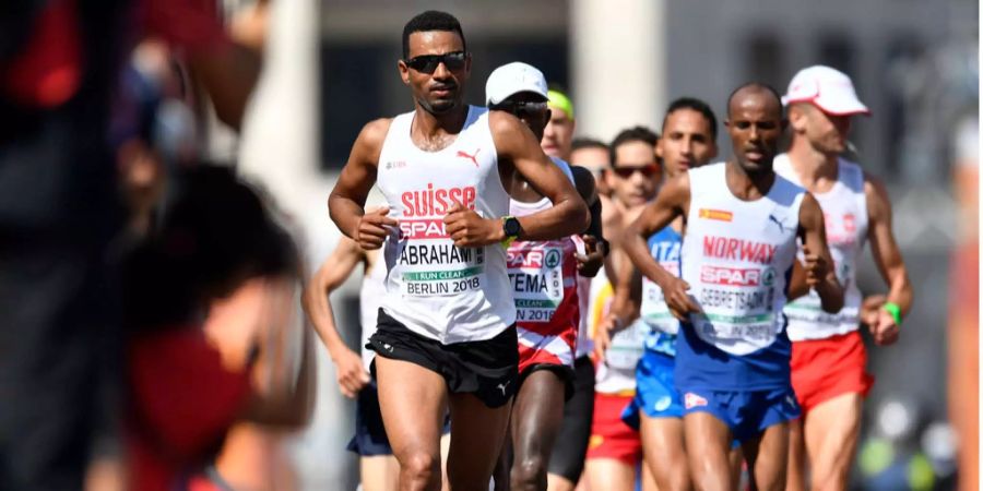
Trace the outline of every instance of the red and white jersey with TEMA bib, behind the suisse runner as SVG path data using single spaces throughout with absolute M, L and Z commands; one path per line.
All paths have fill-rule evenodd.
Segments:
M 553 161 L 573 181 L 570 166 Z M 553 207 L 548 197 L 535 203 L 511 200 L 509 214 L 532 215 Z M 545 349 L 562 364 L 573 366 L 580 300 L 577 297 L 577 246 L 572 237 L 513 241 L 508 250 L 509 280 L 516 299 L 519 345 Z

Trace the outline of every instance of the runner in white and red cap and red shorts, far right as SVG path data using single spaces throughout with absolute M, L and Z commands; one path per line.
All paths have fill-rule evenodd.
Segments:
M 792 143 L 774 159 L 774 171 L 809 191 L 826 217 L 826 237 L 836 273 L 845 288 L 838 313 L 820 311 L 812 292 L 785 306 L 792 339 L 792 386 L 802 418 L 792 422 L 789 489 L 805 489 L 806 455 L 814 490 L 846 489 L 860 434 L 863 399 L 873 385 L 857 326 L 864 307 L 875 314 L 868 327 L 877 345 L 898 339 L 912 301 L 911 283 L 891 230 L 891 203 L 884 184 L 842 157 L 850 120 L 869 115 L 845 74 L 816 65 L 800 71 L 783 98 Z M 869 239 L 874 261 L 888 284 L 887 296 L 862 302 L 857 260 Z M 864 303 L 864 306 L 862 306 Z

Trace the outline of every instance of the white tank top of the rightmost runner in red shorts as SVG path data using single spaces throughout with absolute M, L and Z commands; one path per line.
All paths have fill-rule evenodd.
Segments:
M 774 158 L 774 170 L 798 184 L 798 175 L 786 154 Z M 825 339 L 856 331 L 863 296 L 856 286 L 856 263 L 867 238 L 867 196 L 864 193 L 864 171 L 856 164 L 840 159 L 837 182 L 829 191 L 817 194 L 826 219 L 826 240 L 836 264 L 837 279 L 843 285 L 843 309 L 826 313 L 815 290 L 785 306 L 789 318 L 789 338 Z M 800 255 L 802 255 L 800 253 Z

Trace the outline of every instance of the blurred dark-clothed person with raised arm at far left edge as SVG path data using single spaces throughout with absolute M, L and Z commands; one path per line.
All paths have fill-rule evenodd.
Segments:
M 123 221 L 107 144 L 132 40 L 179 49 L 238 127 L 259 57 L 211 0 L 14 0 L 0 7 L 0 489 L 75 490 L 112 414 Z M 71 410 L 67 410 L 71 408 Z M 111 431 L 111 430 L 107 430 Z

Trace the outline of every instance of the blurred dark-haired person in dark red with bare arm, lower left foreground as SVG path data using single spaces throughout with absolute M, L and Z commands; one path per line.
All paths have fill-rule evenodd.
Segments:
M 270 428 L 310 411 L 309 345 L 289 322 L 297 252 L 229 170 L 180 182 L 123 271 L 131 489 L 289 489 L 268 468 Z

